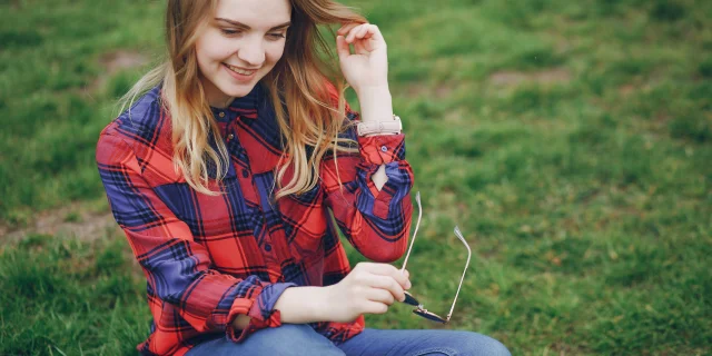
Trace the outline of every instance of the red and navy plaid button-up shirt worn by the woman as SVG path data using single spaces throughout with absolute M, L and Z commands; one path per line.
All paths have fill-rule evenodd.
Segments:
M 239 343 L 280 326 L 274 306 L 285 288 L 328 286 L 349 273 L 334 222 L 368 259 L 394 261 L 405 251 L 413 170 L 404 135 L 357 137 L 349 128 L 344 135 L 358 142 L 358 154 L 342 154 L 338 165 L 326 155 L 314 189 L 274 201 L 283 147 L 268 96 L 256 86 L 212 109 L 231 165 L 209 185 L 225 194 L 207 196 L 174 170 L 170 117 L 159 98 L 160 88 L 149 91 L 130 117 L 102 130 L 97 146 L 111 211 L 147 279 L 154 319 L 141 354 L 182 355 L 216 334 Z M 348 118 L 358 115 L 348 110 Z M 372 175 L 382 164 L 388 180 L 379 191 Z M 238 314 L 250 317 L 243 330 L 233 327 Z M 364 328 L 364 317 L 312 326 L 338 344 Z

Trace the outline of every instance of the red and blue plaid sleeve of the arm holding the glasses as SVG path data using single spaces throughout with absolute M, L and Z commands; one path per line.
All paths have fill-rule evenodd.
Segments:
M 97 164 L 111 211 L 148 280 L 156 337 L 182 339 L 188 323 L 198 333 L 225 332 L 240 342 L 257 329 L 280 325 L 274 306 L 294 284 L 240 279 L 214 269 L 207 249 L 145 179 L 126 139 L 102 134 Z M 251 318 L 244 330 L 233 326 L 239 314 Z

